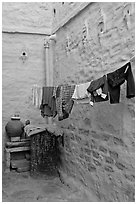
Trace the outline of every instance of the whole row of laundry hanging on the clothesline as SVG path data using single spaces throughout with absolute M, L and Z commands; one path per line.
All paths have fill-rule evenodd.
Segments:
M 134 77 L 131 70 L 133 58 L 135 56 L 132 56 L 128 62 L 114 72 L 90 82 L 78 85 L 60 84 L 54 87 L 35 86 L 33 104 L 40 108 L 43 117 L 55 117 L 58 114 L 58 119 L 63 120 L 69 117 L 74 101 L 90 103 L 91 106 L 94 102 L 108 100 L 111 104 L 119 103 L 120 86 L 125 80 L 127 80 L 126 97 L 133 98 L 135 97 Z

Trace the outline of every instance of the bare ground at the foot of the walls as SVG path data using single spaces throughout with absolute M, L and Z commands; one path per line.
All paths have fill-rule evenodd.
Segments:
M 68 184 L 69 183 L 69 184 Z M 97 201 L 71 178 L 62 183 L 59 177 L 32 177 L 29 172 L 3 173 L 2 202 L 88 202 Z

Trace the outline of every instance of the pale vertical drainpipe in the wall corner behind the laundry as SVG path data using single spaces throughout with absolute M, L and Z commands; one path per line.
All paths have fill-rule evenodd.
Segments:
M 46 69 L 46 86 L 53 86 L 53 49 L 56 42 L 56 34 L 51 35 L 44 42 L 45 48 L 45 69 Z M 52 124 L 52 117 L 45 117 L 47 124 Z

